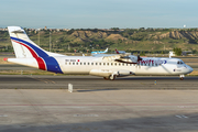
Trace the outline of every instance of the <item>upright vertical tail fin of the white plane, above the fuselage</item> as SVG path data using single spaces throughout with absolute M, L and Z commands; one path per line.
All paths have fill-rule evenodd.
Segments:
M 48 54 L 32 42 L 20 26 L 8 26 L 16 58 L 47 57 Z

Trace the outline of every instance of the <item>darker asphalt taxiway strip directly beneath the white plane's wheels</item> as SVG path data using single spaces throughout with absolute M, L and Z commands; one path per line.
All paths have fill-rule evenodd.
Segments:
M 0 75 L 0 89 L 67 89 L 73 84 L 76 90 L 98 89 L 198 89 L 198 77 L 187 76 L 130 76 L 105 80 L 95 76 L 30 76 Z

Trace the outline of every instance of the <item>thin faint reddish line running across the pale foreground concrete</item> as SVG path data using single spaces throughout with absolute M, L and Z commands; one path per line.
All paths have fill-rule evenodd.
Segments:
M 165 105 L 162 105 L 162 103 L 132 103 L 132 105 L 119 105 L 119 103 L 118 103 L 118 105 L 114 105 L 114 103 L 113 103 L 113 105 L 111 105 L 111 103 L 110 103 L 110 105 L 0 105 L 0 106 L 8 106 L 8 107 L 9 107 L 9 106 L 10 106 L 10 107 L 14 107 L 14 106 L 15 106 L 15 107 L 25 107 L 25 106 L 43 106 L 43 107 L 47 107 L 47 106 L 48 106 L 48 107 L 50 107 L 50 106 L 56 106 L 56 107 L 58 107 L 58 106 L 59 106 L 59 107 L 62 107 L 62 106 L 63 106 L 63 107 L 64 107 L 64 106 L 72 106 L 72 107 L 75 107 L 75 106 L 78 106 L 78 107 L 79 107 L 79 106 L 80 106 L 80 107 L 86 107 L 86 106 L 96 106 L 96 107 L 97 107 L 97 106 L 105 106 L 105 107 L 106 107 L 106 106 L 107 106 L 107 107 L 108 107 L 108 106 L 114 106 L 114 107 L 117 107 L 117 106 L 118 106 L 118 107 L 119 107 L 119 106 L 146 107 L 146 106 L 147 106 L 147 107 L 152 107 L 152 106 L 153 106 L 153 107 L 166 107 L 166 106 L 173 106 L 173 107 L 178 107 L 178 105 L 170 105 L 170 103 L 165 103 Z M 188 103 L 188 105 L 183 105 L 183 106 L 185 106 L 185 107 L 189 107 L 189 106 L 190 106 L 190 107 L 195 107 L 195 106 L 198 107 L 198 103 Z

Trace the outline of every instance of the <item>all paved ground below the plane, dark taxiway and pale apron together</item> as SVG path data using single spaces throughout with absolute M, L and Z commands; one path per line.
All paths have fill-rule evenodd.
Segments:
M 0 132 L 197 132 L 197 80 L 0 75 Z

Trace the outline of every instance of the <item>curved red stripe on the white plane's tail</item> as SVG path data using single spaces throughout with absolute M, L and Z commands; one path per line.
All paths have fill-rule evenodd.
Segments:
M 14 41 L 14 40 L 12 40 L 12 41 L 18 43 L 18 44 L 25 46 L 31 52 L 32 56 L 36 59 L 38 68 L 46 70 L 45 62 L 43 61 L 43 58 L 38 57 L 37 54 L 30 46 L 28 46 L 21 42 Z

